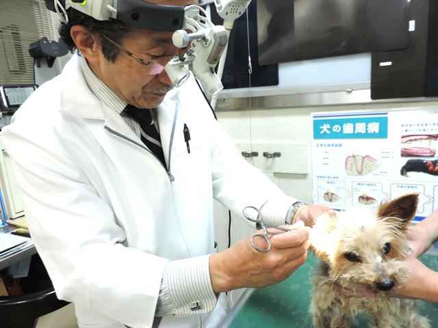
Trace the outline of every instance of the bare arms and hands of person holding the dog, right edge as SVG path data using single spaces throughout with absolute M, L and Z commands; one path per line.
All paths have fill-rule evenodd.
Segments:
M 411 267 L 411 277 L 398 290 L 398 295 L 438 302 L 438 273 L 428 269 L 417 259 L 438 239 L 438 210 L 412 226 L 408 238 L 412 254 L 406 261 Z

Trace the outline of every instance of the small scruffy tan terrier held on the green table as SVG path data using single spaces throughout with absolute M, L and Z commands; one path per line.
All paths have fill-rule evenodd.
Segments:
M 415 215 L 418 195 L 404 195 L 364 210 L 324 214 L 311 232 L 311 250 L 320 263 L 313 275 L 311 314 L 316 328 L 348 328 L 360 312 L 370 327 L 429 328 L 415 310 L 415 301 L 389 297 L 409 276 L 402 261 L 409 254 L 406 233 Z M 358 297 L 346 290 L 366 286 L 375 296 Z

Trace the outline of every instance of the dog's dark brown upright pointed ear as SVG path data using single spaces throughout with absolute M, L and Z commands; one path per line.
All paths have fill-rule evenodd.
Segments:
M 417 206 L 418 194 L 410 193 L 390 202 L 382 203 L 378 207 L 377 216 L 379 219 L 394 221 L 400 230 L 405 230 L 415 216 Z

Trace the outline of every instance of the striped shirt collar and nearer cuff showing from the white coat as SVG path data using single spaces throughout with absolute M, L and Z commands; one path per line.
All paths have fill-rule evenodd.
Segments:
M 120 99 L 110 87 L 96 77 L 84 57 L 81 59 L 81 69 L 92 93 L 105 105 L 122 115 L 128 105 L 127 102 Z M 140 124 L 127 115 L 122 117 L 141 139 L 144 132 Z M 153 122 L 157 124 L 155 111 L 153 111 Z M 214 309 L 216 301 L 211 286 L 209 256 L 170 261 L 164 270 L 155 316 L 205 314 Z M 198 303 L 197 309 L 194 309 L 194 303 Z

